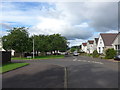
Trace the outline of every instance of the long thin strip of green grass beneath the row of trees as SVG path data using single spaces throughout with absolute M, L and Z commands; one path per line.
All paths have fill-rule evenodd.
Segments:
M 36 56 L 34 59 L 57 59 L 64 58 L 64 55 Z M 12 60 L 32 60 L 32 58 L 13 57 Z

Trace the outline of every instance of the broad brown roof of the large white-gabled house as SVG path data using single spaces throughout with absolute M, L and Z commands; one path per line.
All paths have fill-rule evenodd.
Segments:
M 100 35 L 104 41 L 105 46 L 111 46 L 118 33 L 101 33 Z

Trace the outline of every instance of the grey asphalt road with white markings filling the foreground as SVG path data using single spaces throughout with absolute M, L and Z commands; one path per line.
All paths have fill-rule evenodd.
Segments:
M 31 63 L 3 74 L 3 88 L 118 88 L 118 63 L 86 56 L 17 60 Z M 67 78 L 65 78 L 67 67 Z

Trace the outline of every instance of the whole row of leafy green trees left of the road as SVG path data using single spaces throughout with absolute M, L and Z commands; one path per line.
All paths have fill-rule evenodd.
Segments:
M 35 52 L 66 51 L 67 39 L 60 34 L 53 35 L 33 35 L 29 37 L 25 27 L 13 28 L 9 30 L 7 36 L 3 36 L 3 47 L 5 50 L 15 50 L 16 52 L 32 52 L 33 40 Z

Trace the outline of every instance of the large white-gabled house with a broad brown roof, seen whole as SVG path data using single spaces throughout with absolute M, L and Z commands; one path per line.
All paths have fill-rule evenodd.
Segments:
M 116 36 L 117 33 L 101 33 L 97 44 L 98 53 L 104 54 L 107 49 L 113 48 L 112 43 Z

